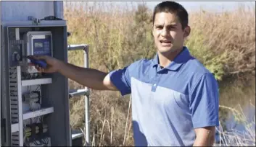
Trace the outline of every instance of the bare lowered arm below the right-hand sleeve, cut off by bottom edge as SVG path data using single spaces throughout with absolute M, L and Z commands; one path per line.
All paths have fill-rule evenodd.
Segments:
M 194 129 L 197 135 L 193 146 L 213 146 L 215 140 L 215 127 Z

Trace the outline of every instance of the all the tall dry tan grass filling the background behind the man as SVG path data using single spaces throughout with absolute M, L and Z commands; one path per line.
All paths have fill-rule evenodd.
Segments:
M 140 58 L 152 58 L 155 48 L 151 14 L 152 11 L 143 5 L 137 7 L 134 4 L 131 9 L 126 9 L 112 2 L 88 5 L 86 1 L 66 1 L 65 19 L 67 29 L 72 33 L 68 43 L 90 45 L 89 66 L 102 71 L 123 68 Z M 253 87 L 253 82 L 248 81 L 255 81 L 250 80 L 255 70 L 255 7 L 239 6 L 234 12 L 221 13 L 201 10 L 192 12 L 189 20 L 191 35 L 186 45 L 220 81 L 220 104 L 234 107 L 236 99 L 242 99 L 239 101 L 242 102 L 255 97 L 255 88 L 248 90 L 248 87 Z M 82 51 L 72 51 L 68 57 L 70 63 L 83 66 Z M 74 81 L 69 81 L 69 84 L 70 89 L 81 88 Z M 129 96 L 120 99 L 118 92 L 92 90 L 90 123 L 93 146 L 133 146 L 130 99 Z M 230 100 L 234 104 L 228 105 Z M 255 105 L 255 101 L 252 103 Z M 83 97 L 70 100 L 73 128 L 84 128 L 83 104 Z M 220 119 L 223 124 L 230 112 L 225 108 L 220 110 L 221 117 L 225 117 Z M 225 129 L 221 131 L 223 141 L 231 141 L 234 136 L 237 140 L 226 144 L 222 141 L 224 145 L 247 145 L 242 142 L 241 134 L 230 134 Z M 255 130 L 247 133 L 255 133 Z

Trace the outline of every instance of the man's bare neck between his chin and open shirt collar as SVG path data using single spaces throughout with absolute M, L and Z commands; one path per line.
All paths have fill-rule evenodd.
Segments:
M 176 58 L 176 56 L 181 53 L 181 51 L 183 50 L 183 48 L 178 49 L 174 52 L 171 53 L 166 53 L 166 54 L 162 54 L 160 52 L 158 52 L 158 58 L 159 58 L 159 63 L 161 67 L 166 67 L 168 66 L 173 60 L 174 58 Z

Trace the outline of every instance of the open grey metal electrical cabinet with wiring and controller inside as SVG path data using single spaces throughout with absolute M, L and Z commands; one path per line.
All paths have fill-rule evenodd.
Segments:
M 67 61 L 66 22 L 6 22 L 1 30 L 2 144 L 70 146 L 67 78 L 38 73 L 26 58 L 50 55 Z

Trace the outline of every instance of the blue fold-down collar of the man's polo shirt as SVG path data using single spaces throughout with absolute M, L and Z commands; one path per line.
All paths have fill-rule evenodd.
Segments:
M 170 71 L 176 71 L 179 67 L 182 66 L 183 63 L 186 63 L 186 61 L 189 60 L 190 53 L 189 49 L 186 48 L 186 46 L 183 47 L 181 50 L 181 53 L 179 53 L 176 58 L 165 68 L 169 69 Z M 154 56 L 153 58 L 153 66 L 159 65 L 158 62 L 158 54 Z

